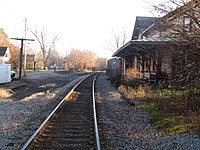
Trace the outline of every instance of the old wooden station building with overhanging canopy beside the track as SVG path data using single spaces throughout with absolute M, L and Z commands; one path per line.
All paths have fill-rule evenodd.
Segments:
M 187 12 L 191 8 L 199 9 L 197 3 L 190 1 L 161 18 L 136 17 L 131 41 L 119 48 L 113 57 L 123 58 L 126 69 L 133 68 L 141 72 L 142 77 L 165 74 L 168 79 L 172 78 L 185 65 L 183 56 L 176 54 L 177 49 L 190 46 L 178 34 L 176 36 L 174 31 L 191 31 L 191 16 Z

